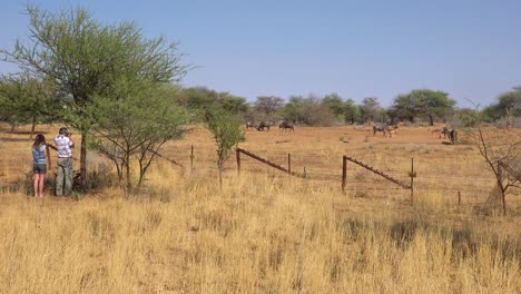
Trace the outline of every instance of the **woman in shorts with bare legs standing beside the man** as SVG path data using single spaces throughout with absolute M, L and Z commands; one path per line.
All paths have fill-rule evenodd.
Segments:
M 47 158 L 49 150 L 47 149 L 46 137 L 38 134 L 32 144 L 32 171 L 35 173 L 35 197 L 43 198 L 43 184 L 46 182 Z M 50 164 L 50 161 L 49 161 Z

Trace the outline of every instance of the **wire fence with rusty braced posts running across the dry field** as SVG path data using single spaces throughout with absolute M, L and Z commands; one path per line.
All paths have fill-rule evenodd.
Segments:
M 187 170 L 215 169 L 214 149 L 214 146 L 207 145 L 200 147 L 197 145 L 170 146 L 161 151 L 158 160 L 174 160 Z M 303 180 L 331 187 L 332 190 L 341 192 L 342 189 L 343 154 L 338 150 L 318 150 L 311 154 L 292 153 L 291 155 L 284 150 L 269 148 L 249 151 L 279 166 L 287 167 L 292 173 L 303 175 L 305 177 Z M 403 149 L 396 148 L 382 154 L 379 150 L 370 149 L 353 150 L 348 155 L 390 177 L 409 184 L 411 182 L 411 161 L 403 151 Z M 23 175 L 24 171 L 30 170 L 30 151 L 26 147 L 9 148 L 9 153 L 3 153 L 0 156 L 0 185 L 12 183 L 14 177 L 6 175 Z M 79 167 L 79 155 L 75 155 L 73 158 L 75 167 Z M 228 160 L 225 165 L 225 169 L 228 171 L 236 168 L 235 160 Z M 243 158 L 240 169 L 254 175 L 267 173 L 274 176 L 286 176 L 283 171 L 275 170 L 249 157 Z M 483 203 L 495 187 L 495 178 L 490 168 L 472 154 L 449 153 L 443 154 L 443 156 L 429 151 L 416 154 L 414 155 L 414 173 L 416 174 L 413 184 L 415 197 L 439 195 L 451 200 Z M 409 197 L 409 192 L 403 187 L 353 163 L 347 163 L 344 190 L 351 196 Z M 512 189 L 511 193 L 520 195 L 519 189 Z

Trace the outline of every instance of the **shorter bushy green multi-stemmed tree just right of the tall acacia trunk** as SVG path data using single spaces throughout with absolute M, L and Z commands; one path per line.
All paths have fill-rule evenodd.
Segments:
M 134 187 L 132 163 L 139 166 L 139 190 L 164 144 L 184 133 L 188 116 L 174 102 L 174 91 L 169 85 L 120 80 L 109 96 L 94 97 L 88 111 L 97 121 L 91 128 L 92 147 L 115 164 L 127 192 Z

